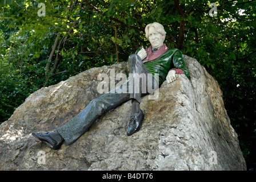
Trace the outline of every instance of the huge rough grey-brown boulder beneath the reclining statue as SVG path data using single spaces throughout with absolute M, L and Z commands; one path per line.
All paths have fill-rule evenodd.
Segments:
M 113 68 L 125 73 L 127 63 L 93 68 L 39 89 L 0 125 L 0 170 L 246 170 L 218 82 L 197 60 L 183 58 L 190 78 L 177 75 L 171 84 L 163 83 L 156 100 L 143 97 L 145 119 L 130 137 L 130 101 L 57 151 L 31 135 L 64 125 L 101 95 L 99 73 Z

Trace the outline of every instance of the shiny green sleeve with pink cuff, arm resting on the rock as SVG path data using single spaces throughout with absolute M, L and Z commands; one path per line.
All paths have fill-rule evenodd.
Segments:
M 177 49 L 173 55 L 173 66 L 174 68 L 170 70 L 175 70 L 177 74 L 185 74 L 187 77 L 189 77 L 189 71 L 187 71 L 182 53 L 179 51 L 179 49 Z

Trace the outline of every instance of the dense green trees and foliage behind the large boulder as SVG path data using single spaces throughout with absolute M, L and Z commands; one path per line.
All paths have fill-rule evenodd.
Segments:
M 178 5 L 175 2 L 179 2 Z M 62 0 L 0 2 L 0 122 L 35 90 L 148 47 L 146 24 L 194 57 L 218 81 L 248 169 L 255 169 L 255 1 Z M 38 16 L 38 3 L 46 15 Z M 184 32 L 181 22 L 185 21 Z M 55 48 L 54 45 L 56 44 Z

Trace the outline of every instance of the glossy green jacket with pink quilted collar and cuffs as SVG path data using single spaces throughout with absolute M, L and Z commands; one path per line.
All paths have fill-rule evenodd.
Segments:
M 143 60 L 143 63 L 153 76 L 155 73 L 159 74 L 159 85 L 166 80 L 166 76 L 171 69 L 174 69 L 177 74 L 185 74 L 189 77 L 189 72 L 186 69 L 182 53 L 179 49 L 169 49 L 165 44 L 153 53 L 151 49 L 151 46 L 146 49 L 147 57 Z

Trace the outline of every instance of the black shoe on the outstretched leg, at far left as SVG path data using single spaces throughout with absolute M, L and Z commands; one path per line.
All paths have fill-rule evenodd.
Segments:
M 35 138 L 41 140 L 42 142 L 45 142 L 48 146 L 50 146 L 54 150 L 58 150 L 58 148 L 61 147 L 62 143 L 64 142 L 64 139 L 61 137 L 58 131 L 55 131 L 53 133 L 47 133 L 47 134 L 33 132 L 32 135 Z

